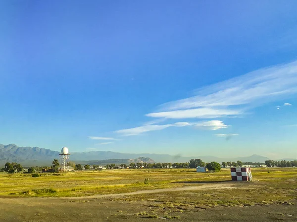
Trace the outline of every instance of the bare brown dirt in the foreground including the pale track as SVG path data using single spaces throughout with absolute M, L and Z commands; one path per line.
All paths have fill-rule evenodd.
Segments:
M 168 189 L 143 190 L 122 194 L 95 195 L 70 198 L 16 197 L 0 198 L 0 221 L 2 222 L 140 222 L 168 221 L 168 219 L 148 218 L 151 204 L 156 201 L 122 201 L 119 196 L 129 196 L 147 193 L 162 193 L 177 191 L 193 191 L 199 189 L 236 189 L 229 183 L 201 184 Z M 244 192 L 244 189 L 243 189 Z M 181 192 L 177 192 L 181 195 Z M 161 209 L 170 212 L 171 216 L 178 215 L 170 221 L 179 222 L 271 222 L 297 221 L 297 205 L 273 204 L 267 206 L 216 206 L 210 208 L 181 208 L 182 213 L 172 209 Z M 160 212 L 159 212 L 160 213 Z

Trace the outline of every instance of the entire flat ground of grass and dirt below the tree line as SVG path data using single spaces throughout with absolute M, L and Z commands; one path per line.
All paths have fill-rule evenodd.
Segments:
M 0 174 L 0 221 L 297 221 L 297 168 L 252 169 L 252 182 L 230 169 L 41 175 Z

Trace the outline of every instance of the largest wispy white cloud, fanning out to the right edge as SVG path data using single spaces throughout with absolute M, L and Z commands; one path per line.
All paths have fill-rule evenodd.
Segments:
M 214 118 L 240 115 L 250 107 L 297 93 L 297 61 L 260 69 L 196 90 L 196 96 L 161 105 L 149 117 Z

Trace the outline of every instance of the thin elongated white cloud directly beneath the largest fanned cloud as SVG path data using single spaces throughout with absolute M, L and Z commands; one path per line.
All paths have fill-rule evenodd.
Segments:
M 123 136 L 134 136 L 139 135 L 149 131 L 163 130 L 168 127 L 184 127 L 184 126 L 196 126 L 202 130 L 217 130 L 222 128 L 227 128 L 228 126 L 219 120 L 203 121 L 203 122 L 176 122 L 172 124 L 165 125 L 143 125 L 130 129 L 117 130 Z

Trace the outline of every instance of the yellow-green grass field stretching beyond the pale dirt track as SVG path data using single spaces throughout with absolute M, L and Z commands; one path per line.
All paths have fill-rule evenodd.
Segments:
M 219 173 L 197 173 L 195 169 L 123 169 L 40 175 L 39 178 L 32 178 L 31 174 L 0 174 L 0 195 L 73 197 L 230 181 L 230 169 L 222 169 Z M 297 168 L 254 168 L 252 176 L 253 182 L 232 182 L 233 186 L 240 185 L 247 189 L 241 192 L 239 200 L 233 199 L 236 204 L 246 201 L 247 195 L 253 192 L 257 192 L 256 202 L 296 198 Z M 150 179 L 149 184 L 144 183 L 145 178 Z M 197 191 L 195 195 L 200 195 L 200 192 Z M 231 193 L 231 190 L 213 193 L 218 199 L 217 203 L 220 203 L 219 199 L 228 199 L 228 195 L 231 195 L 228 192 Z M 211 195 L 203 196 L 203 201 L 211 200 Z M 267 196 L 270 198 L 265 198 Z

